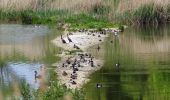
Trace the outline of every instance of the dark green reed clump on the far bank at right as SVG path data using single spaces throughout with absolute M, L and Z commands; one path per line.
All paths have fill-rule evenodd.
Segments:
M 133 24 L 160 24 L 170 19 L 170 7 L 156 6 L 153 3 L 145 4 L 133 11 L 126 11 L 120 17 L 124 23 Z M 118 16 L 118 17 L 119 17 Z

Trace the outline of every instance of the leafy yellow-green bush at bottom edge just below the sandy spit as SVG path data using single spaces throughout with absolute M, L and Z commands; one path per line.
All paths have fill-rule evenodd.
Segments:
M 73 96 L 73 100 L 84 100 L 84 92 L 79 90 L 70 90 L 64 85 L 60 85 L 56 80 L 56 72 L 49 72 L 49 88 L 46 91 L 37 90 L 34 97 L 38 100 L 62 100 L 67 94 Z

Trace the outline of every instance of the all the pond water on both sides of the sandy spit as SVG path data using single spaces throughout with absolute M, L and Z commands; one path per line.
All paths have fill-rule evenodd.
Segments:
M 0 25 L 0 100 L 20 96 L 22 80 L 40 87 L 34 71 L 51 69 L 59 59 L 60 49 L 51 43 L 59 33 L 47 26 Z M 170 99 L 170 26 L 129 27 L 119 37 L 110 35 L 99 52 L 96 47 L 89 51 L 105 63 L 84 86 L 86 100 Z

